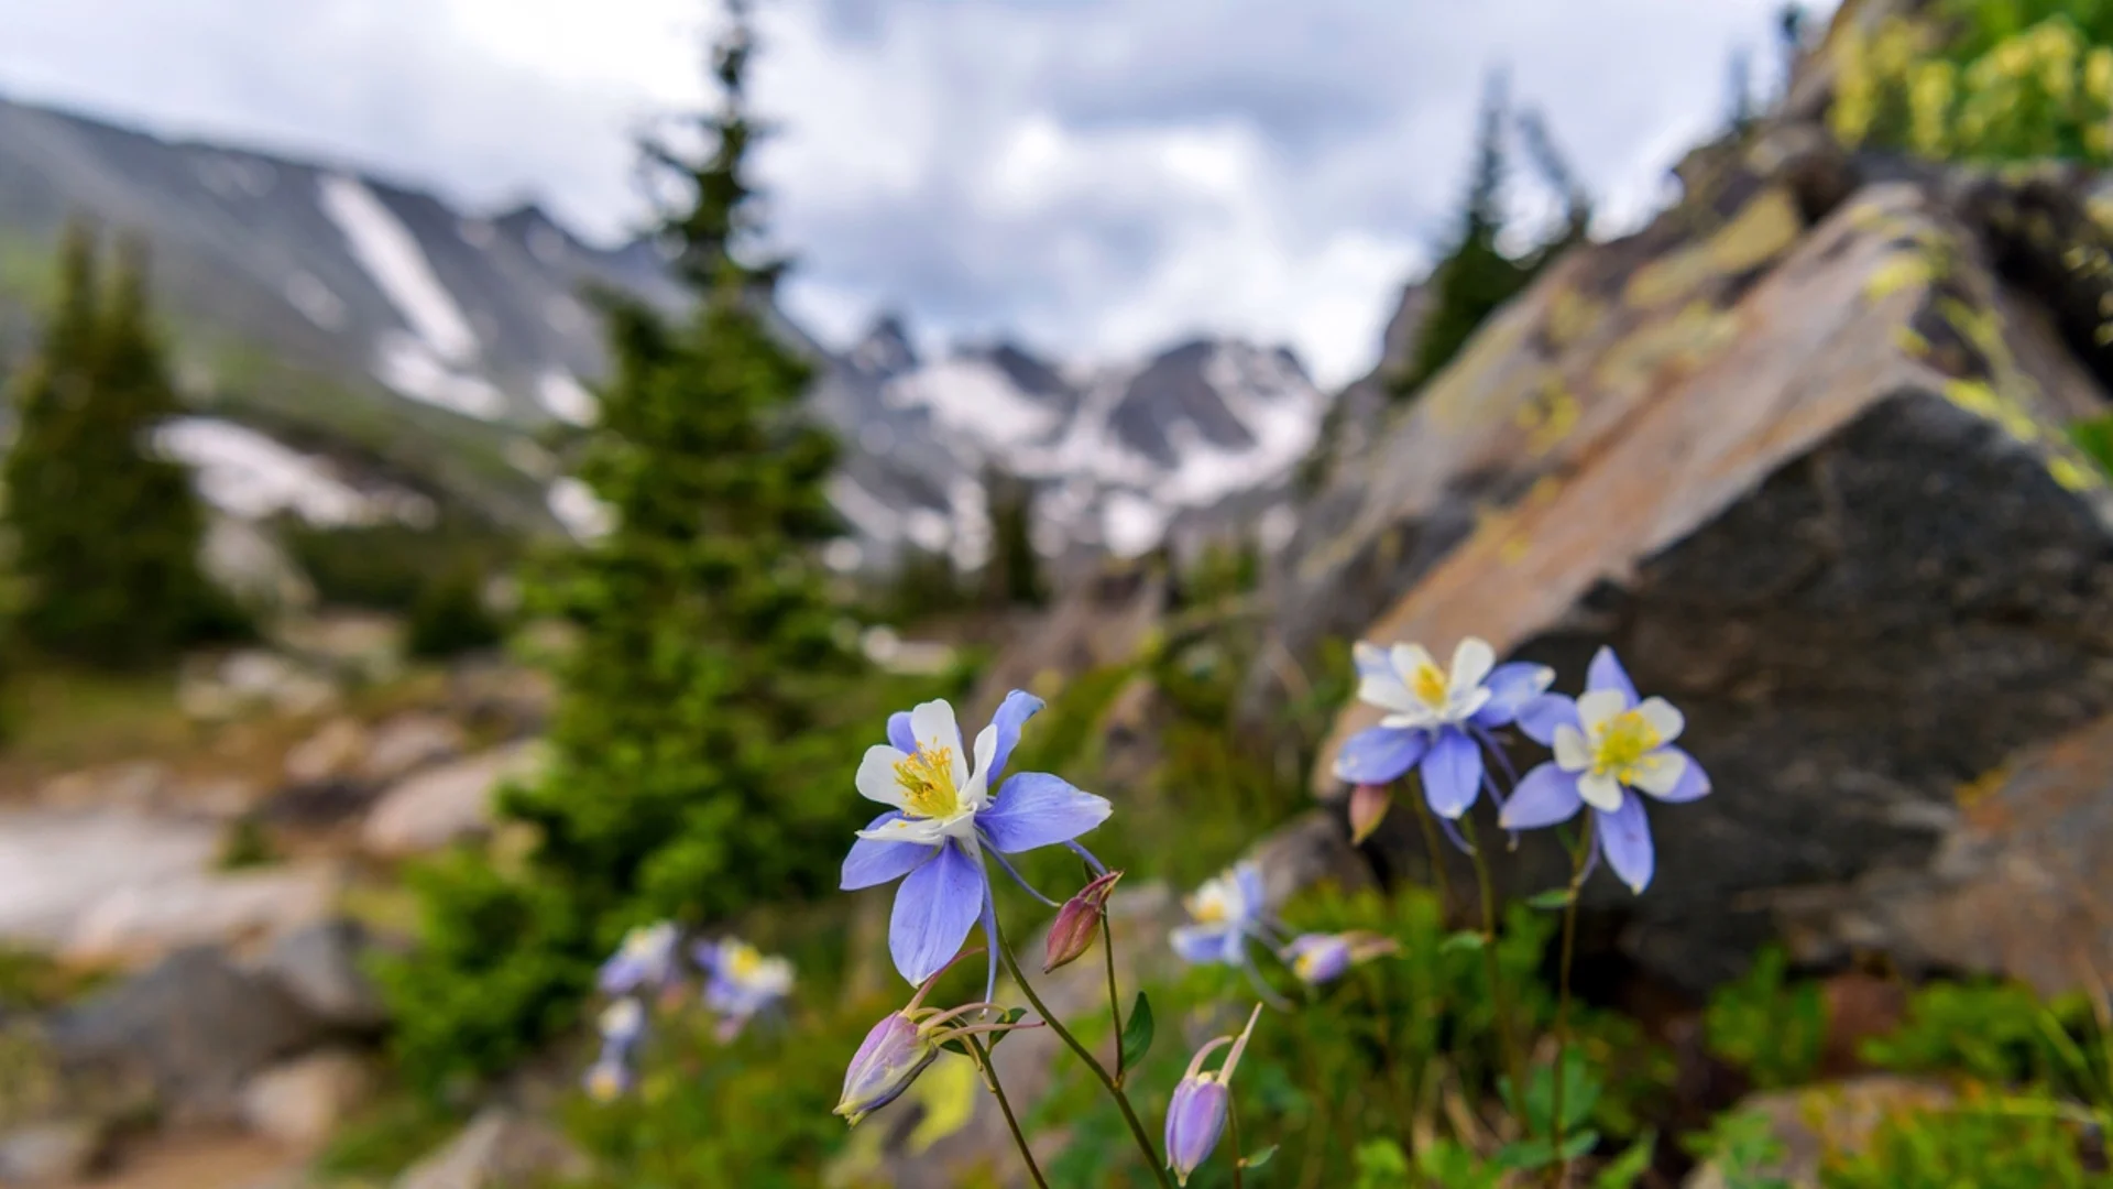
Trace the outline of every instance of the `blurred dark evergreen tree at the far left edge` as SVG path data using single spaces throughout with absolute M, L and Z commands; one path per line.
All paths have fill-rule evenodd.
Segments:
M 59 300 L 15 408 L 4 478 L 27 643 L 142 666 L 239 630 L 241 616 L 199 569 L 205 512 L 190 476 L 154 453 L 156 425 L 180 404 L 139 245 L 120 245 L 104 292 L 93 235 L 68 231 Z

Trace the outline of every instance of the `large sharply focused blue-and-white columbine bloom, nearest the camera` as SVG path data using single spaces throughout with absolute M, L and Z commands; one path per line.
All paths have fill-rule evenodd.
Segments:
M 858 766 L 860 795 L 892 808 L 858 831 L 843 859 L 843 889 L 902 880 L 887 925 L 887 950 L 911 984 L 923 984 L 947 965 L 978 918 L 993 935 L 995 982 L 997 908 L 983 867 L 985 848 L 1006 865 L 1004 855 L 1073 844 L 1114 812 L 1105 798 L 1048 772 L 1021 772 L 993 793 L 993 781 L 1021 740 L 1021 724 L 1040 709 L 1042 698 L 1033 694 L 1006 694 L 991 726 L 976 736 L 970 766 L 953 707 L 923 702 L 892 715 L 887 743 L 871 747 Z

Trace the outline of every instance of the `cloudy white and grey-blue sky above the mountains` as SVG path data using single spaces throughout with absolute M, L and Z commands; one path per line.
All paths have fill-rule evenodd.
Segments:
M 1190 332 L 1371 364 L 1464 186 L 1488 70 L 1633 222 L 1773 87 L 1779 0 L 765 0 L 759 163 L 792 311 L 1078 360 Z M 1828 2 L 1811 4 L 1826 11 Z M 0 95 L 636 231 L 632 138 L 702 93 L 708 0 L 0 0 Z M 1521 214 L 1545 209 L 1530 180 Z

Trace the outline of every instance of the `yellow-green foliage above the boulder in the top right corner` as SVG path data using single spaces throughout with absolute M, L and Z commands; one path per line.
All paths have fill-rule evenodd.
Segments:
M 1948 0 L 1938 19 L 1845 28 L 1834 133 L 1944 161 L 2113 161 L 2113 8 Z

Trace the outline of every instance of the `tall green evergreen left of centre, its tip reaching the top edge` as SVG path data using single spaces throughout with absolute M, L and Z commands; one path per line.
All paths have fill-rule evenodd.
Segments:
M 750 40 L 729 11 L 708 157 L 649 148 L 693 195 L 666 233 L 697 305 L 682 324 L 611 307 L 615 374 L 581 476 L 613 529 L 537 592 L 579 628 L 551 764 L 503 798 L 539 844 L 511 891 L 488 865 L 431 872 L 427 948 L 385 971 L 399 1051 L 429 1083 L 568 1022 L 630 925 L 833 891 L 868 817 L 852 774 L 885 707 L 856 698 L 862 662 L 818 563 L 839 533 L 835 444 L 797 417 L 807 368 L 765 326 L 782 262 L 752 256 Z

